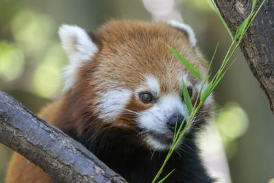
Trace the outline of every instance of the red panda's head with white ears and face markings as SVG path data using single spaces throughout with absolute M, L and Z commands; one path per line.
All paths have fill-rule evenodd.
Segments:
M 204 75 L 207 63 L 192 29 L 175 21 L 110 21 L 92 34 L 70 25 L 60 27 L 59 34 L 70 60 L 64 89 L 67 105 L 74 106 L 68 112 L 77 133 L 115 128 L 117 136 L 132 132 L 132 140 L 149 149 L 169 149 L 174 124 L 187 113 L 182 77 L 193 102 L 201 81 L 166 45 Z M 211 104 L 209 97 L 196 123 L 208 117 Z

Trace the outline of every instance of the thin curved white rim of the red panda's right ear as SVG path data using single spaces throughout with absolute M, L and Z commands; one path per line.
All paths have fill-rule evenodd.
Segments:
M 175 20 L 170 20 L 168 23 L 169 25 L 172 25 L 173 27 L 176 27 L 177 29 L 182 29 L 182 31 L 186 32 L 188 34 L 188 40 L 190 42 L 190 45 L 192 45 L 192 47 L 196 45 L 197 40 L 195 37 L 195 33 L 193 32 L 192 28 L 189 25 L 180 23 Z

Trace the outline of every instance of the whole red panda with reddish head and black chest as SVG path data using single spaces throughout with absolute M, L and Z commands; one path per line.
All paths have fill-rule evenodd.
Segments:
M 64 95 L 39 116 L 82 143 L 128 182 L 151 182 L 186 116 L 182 78 L 195 102 L 201 81 L 166 47 L 170 45 L 204 77 L 208 63 L 195 34 L 183 23 L 110 21 L 95 32 L 62 25 L 69 56 Z M 199 158 L 197 132 L 210 117 L 210 96 L 167 162 L 165 182 L 213 182 Z M 188 117 L 186 118 L 188 120 Z M 23 156 L 12 156 L 6 182 L 54 182 Z

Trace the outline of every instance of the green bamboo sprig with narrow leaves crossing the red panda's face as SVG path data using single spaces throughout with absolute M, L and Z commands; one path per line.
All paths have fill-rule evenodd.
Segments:
M 171 157 L 171 154 L 173 154 L 173 151 L 175 150 L 175 148 L 179 144 L 179 141 L 181 141 L 181 139 L 184 136 L 186 130 L 188 129 L 188 127 L 192 123 L 193 119 L 195 118 L 195 115 L 197 114 L 197 112 L 201 108 L 203 102 L 206 101 L 206 99 L 212 93 L 212 91 L 214 90 L 214 88 L 219 84 L 219 82 L 221 81 L 221 79 L 223 78 L 223 76 L 225 75 L 225 73 L 228 71 L 228 69 L 230 68 L 230 66 L 232 66 L 232 64 L 235 62 L 235 60 L 233 60 L 232 62 L 230 62 L 230 64 L 228 64 L 228 62 L 232 58 L 232 55 L 234 54 L 234 51 L 238 47 L 238 45 L 240 43 L 240 40 L 242 39 L 242 36 L 245 34 L 245 32 L 247 32 L 247 29 L 249 28 L 251 22 L 253 21 L 253 19 L 255 18 L 256 14 L 258 13 L 258 11 L 260 10 L 260 8 L 262 7 L 262 5 L 264 4 L 264 2 L 266 0 L 264 0 L 262 2 L 262 4 L 260 5 L 260 7 L 256 11 L 256 13 L 254 13 L 253 11 L 255 10 L 255 7 L 256 7 L 256 4 L 257 4 L 258 0 L 253 0 L 253 5 L 252 5 L 251 13 L 247 17 L 247 19 L 245 19 L 241 23 L 241 25 L 238 27 L 235 36 L 232 36 L 232 33 L 229 31 L 229 28 L 227 27 L 227 24 L 223 20 L 223 17 L 221 16 L 218 8 L 216 8 L 216 4 L 214 3 L 214 1 L 213 0 L 210 0 L 210 1 L 212 2 L 212 4 L 213 4 L 213 6 L 214 6 L 214 8 L 215 8 L 215 10 L 217 12 L 217 14 L 219 15 L 221 21 L 225 25 L 225 28 L 227 29 L 227 32 L 229 33 L 229 36 L 231 36 L 231 38 L 232 38 L 232 44 L 230 45 L 230 47 L 229 47 L 229 49 L 228 49 L 228 51 L 227 51 L 227 53 L 225 55 L 225 58 L 223 59 L 223 62 L 221 64 L 220 68 L 219 68 L 219 71 L 216 72 L 216 74 L 214 75 L 213 79 L 210 81 L 210 83 L 203 90 L 203 86 L 205 86 L 206 81 L 208 80 L 208 77 L 209 77 L 208 73 L 209 73 L 209 69 L 210 69 L 210 66 L 212 64 L 212 61 L 214 60 L 216 49 L 218 47 L 218 44 L 217 44 L 216 49 L 214 51 L 214 54 L 212 56 L 212 60 L 210 61 L 210 66 L 208 67 L 208 71 L 206 72 L 206 77 L 203 79 L 203 84 L 201 86 L 201 90 L 199 91 L 199 95 L 198 95 L 198 97 L 197 97 L 197 99 L 195 101 L 195 105 L 194 106 L 192 106 L 192 102 L 191 102 L 190 96 L 188 94 L 188 89 L 186 88 L 186 84 L 184 82 L 184 79 L 182 80 L 184 101 L 186 103 L 186 107 L 188 108 L 189 119 L 186 122 L 186 126 L 182 129 L 182 125 L 184 125 L 184 122 L 186 121 L 186 117 L 187 117 L 187 115 L 186 115 L 186 117 L 184 118 L 184 121 L 180 125 L 179 129 L 177 131 L 175 131 L 174 138 L 173 138 L 173 143 L 171 145 L 171 149 L 169 150 L 169 153 L 167 154 L 166 159 L 164 160 L 164 163 L 162 164 L 162 167 L 158 171 L 157 175 L 155 175 L 155 178 L 153 179 L 152 182 L 155 182 L 156 180 L 158 180 L 160 174 L 162 173 L 162 170 L 164 169 L 164 166 L 165 166 L 166 162 Z M 238 40 L 238 42 L 236 42 L 237 40 Z M 201 79 L 201 74 L 199 73 L 199 71 L 194 66 L 192 66 L 188 61 L 186 61 L 186 59 L 184 59 L 183 56 L 181 56 L 179 53 L 177 53 L 177 51 L 175 51 L 175 49 L 173 49 L 169 45 L 166 45 L 166 46 L 171 50 L 171 52 L 174 54 L 174 56 L 180 62 L 182 62 L 182 64 L 184 64 L 184 66 L 186 66 L 186 68 L 189 71 L 191 71 L 191 73 L 193 73 L 197 78 L 199 78 L 199 80 L 202 80 Z M 227 64 L 228 64 L 228 66 L 227 66 Z M 203 92 L 202 92 L 202 90 L 203 90 Z M 199 103 L 198 103 L 198 101 L 199 101 Z M 177 128 L 177 125 L 176 125 L 176 128 Z M 172 172 L 173 171 L 171 171 L 171 173 Z M 168 178 L 168 176 L 171 175 L 171 173 L 169 173 L 168 175 L 166 175 L 166 177 L 163 180 L 161 180 L 160 182 L 163 182 L 164 180 L 166 180 L 166 178 Z

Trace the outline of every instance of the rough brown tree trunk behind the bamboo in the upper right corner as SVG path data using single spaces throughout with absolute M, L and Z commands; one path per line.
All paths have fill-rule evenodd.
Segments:
M 251 12 L 251 0 L 214 0 L 229 29 L 237 27 Z M 258 1 L 256 10 L 262 3 Z M 274 113 L 274 1 L 266 0 L 240 42 L 240 49 L 253 75 L 269 99 Z

